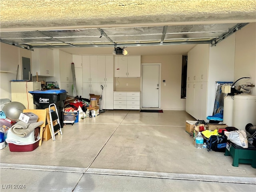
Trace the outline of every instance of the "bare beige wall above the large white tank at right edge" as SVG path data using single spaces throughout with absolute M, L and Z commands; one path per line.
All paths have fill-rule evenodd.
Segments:
M 251 82 L 256 84 L 256 23 L 250 23 L 236 32 L 236 51 L 234 66 L 234 82 L 241 77 L 236 85 Z M 252 95 L 256 96 L 256 87 L 251 88 Z

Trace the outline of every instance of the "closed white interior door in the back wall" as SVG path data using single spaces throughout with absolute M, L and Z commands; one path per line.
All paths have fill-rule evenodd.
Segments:
M 142 64 L 142 107 L 159 107 L 160 64 Z

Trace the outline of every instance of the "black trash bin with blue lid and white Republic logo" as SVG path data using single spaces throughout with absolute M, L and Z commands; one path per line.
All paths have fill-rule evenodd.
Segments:
M 36 109 L 45 109 L 54 103 L 58 110 L 60 126 L 63 127 L 63 108 L 67 97 L 66 90 L 40 90 L 29 91 L 29 93 L 33 95 L 33 102 L 36 105 Z

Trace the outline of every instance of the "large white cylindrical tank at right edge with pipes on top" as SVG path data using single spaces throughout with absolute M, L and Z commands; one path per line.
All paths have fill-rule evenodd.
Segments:
M 233 126 L 245 130 L 248 123 L 256 124 L 256 96 L 238 94 L 234 96 Z

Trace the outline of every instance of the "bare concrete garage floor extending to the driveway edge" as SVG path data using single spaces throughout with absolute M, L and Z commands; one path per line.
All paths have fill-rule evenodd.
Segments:
M 196 149 L 186 120 L 184 111 L 107 110 L 32 152 L 6 147 L 1 191 L 256 191 L 256 169 Z

